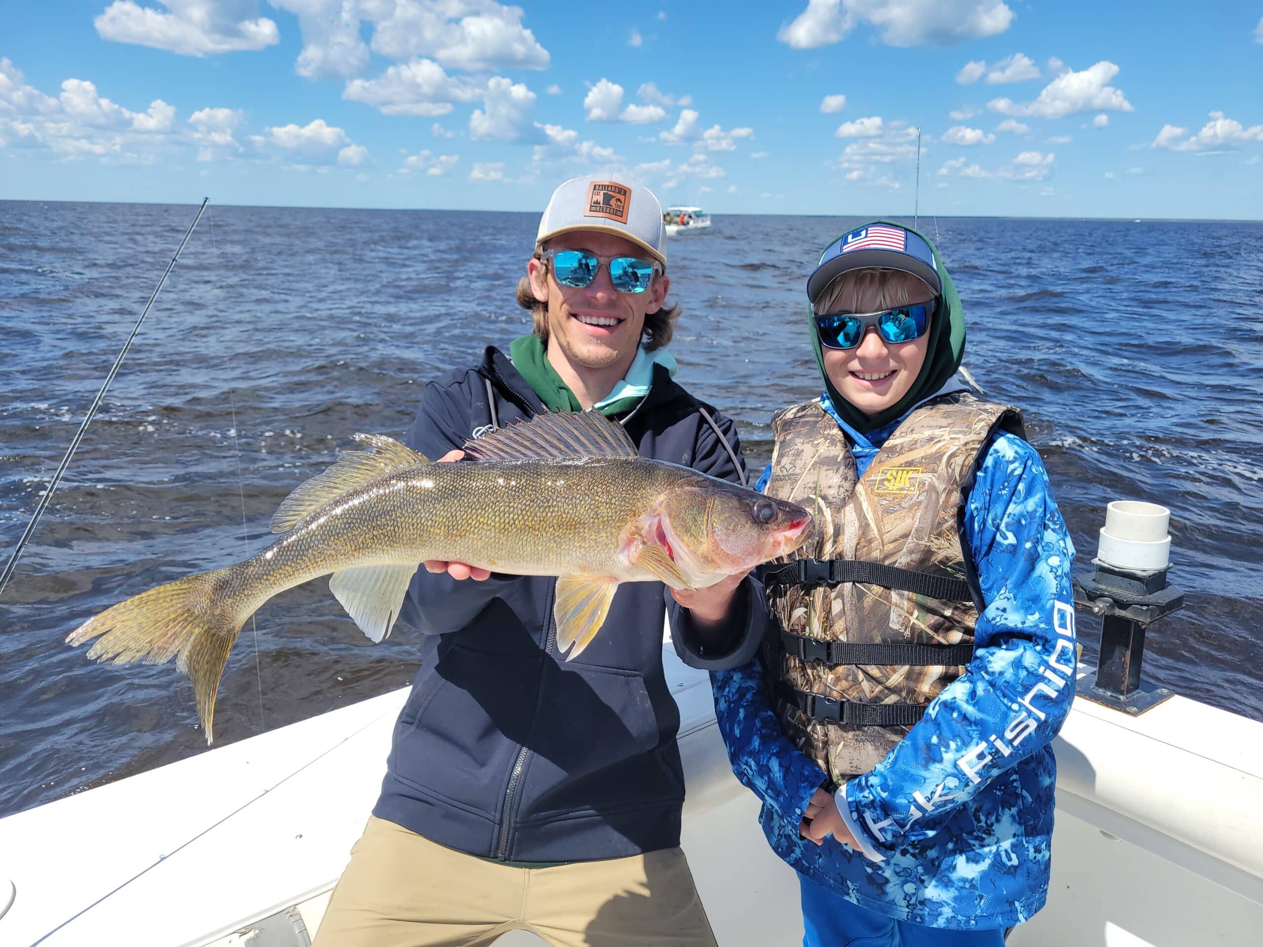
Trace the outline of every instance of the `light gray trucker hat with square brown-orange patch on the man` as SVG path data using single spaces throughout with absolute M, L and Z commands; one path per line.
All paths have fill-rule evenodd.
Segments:
M 571 178 L 556 191 L 539 218 L 536 242 L 575 230 L 597 230 L 643 246 L 667 265 L 662 205 L 639 184 L 620 184 L 599 174 Z

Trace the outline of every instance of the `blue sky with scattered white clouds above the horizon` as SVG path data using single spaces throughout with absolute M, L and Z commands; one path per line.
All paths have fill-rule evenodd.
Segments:
M 0 198 L 1263 220 L 1263 0 L 5 0 Z

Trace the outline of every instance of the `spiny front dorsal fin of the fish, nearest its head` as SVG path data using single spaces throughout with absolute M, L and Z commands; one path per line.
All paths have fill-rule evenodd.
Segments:
M 465 457 L 471 461 L 639 456 L 621 424 L 592 410 L 537 414 L 465 442 Z

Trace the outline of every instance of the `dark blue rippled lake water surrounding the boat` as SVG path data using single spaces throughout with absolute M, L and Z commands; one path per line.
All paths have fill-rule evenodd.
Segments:
M 193 207 L 0 202 L 0 564 Z M 803 285 L 859 218 L 715 217 L 669 241 L 677 376 L 739 426 L 818 393 Z M 66 635 L 114 602 L 259 548 L 357 431 L 529 328 L 524 213 L 211 207 L 0 601 L 0 816 L 201 753 L 173 665 L 99 665 Z M 1086 568 L 1104 505 L 1172 509 L 1185 611 L 1146 679 L 1263 720 L 1263 225 L 922 218 L 969 322 L 965 364 L 1026 410 Z M 1080 616 L 1086 657 L 1099 625 Z M 403 687 L 325 582 L 246 622 L 216 745 Z

